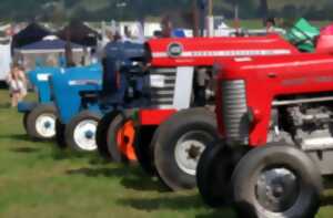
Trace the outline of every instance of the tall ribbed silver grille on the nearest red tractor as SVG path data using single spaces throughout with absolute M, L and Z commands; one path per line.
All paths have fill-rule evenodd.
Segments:
M 244 81 L 222 83 L 222 117 L 226 141 L 231 144 L 248 144 L 249 118 Z

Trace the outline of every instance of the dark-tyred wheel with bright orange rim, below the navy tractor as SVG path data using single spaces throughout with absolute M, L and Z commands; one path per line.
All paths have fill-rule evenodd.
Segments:
M 111 122 L 107 134 L 107 144 L 115 163 L 137 162 L 134 152 L 135 126 L 132 112 L 119 113 Z

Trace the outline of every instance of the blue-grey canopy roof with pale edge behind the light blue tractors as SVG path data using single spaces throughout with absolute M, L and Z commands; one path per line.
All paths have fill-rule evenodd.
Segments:
M 20 48 L 21 52 L 24 53 L 24 51 L 37 51 L 37 52 L 62 52 L 64 51 L 67 42 L 63 40 L 42 40 L 39 42 L 34 42 L 28 45 L 24 45 Z M 71 43 L 72 50 L 82 50 L 83 48 L 79 44 Z

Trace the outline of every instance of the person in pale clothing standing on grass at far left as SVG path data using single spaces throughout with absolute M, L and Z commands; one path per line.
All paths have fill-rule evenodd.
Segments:
M 12 66 L 10 74 L 7 77 L 7 83 L 9 85 L 11 106 L 16 107 L 28 94 L 26 74 L 20 65 L 14 64 Z

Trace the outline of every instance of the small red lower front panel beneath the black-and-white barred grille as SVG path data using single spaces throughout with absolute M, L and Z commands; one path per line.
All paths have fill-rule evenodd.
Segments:
M 140 110 L 139 122 L 141 125 L 160 125 L 175 112 L 175 110 Z

